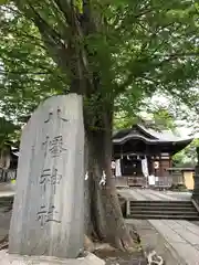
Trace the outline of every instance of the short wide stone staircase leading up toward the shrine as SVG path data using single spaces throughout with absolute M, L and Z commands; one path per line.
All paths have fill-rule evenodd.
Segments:
M 199 221 L 199 213 L 191 201 L 128 201 L 128 219 L 171 219 Z

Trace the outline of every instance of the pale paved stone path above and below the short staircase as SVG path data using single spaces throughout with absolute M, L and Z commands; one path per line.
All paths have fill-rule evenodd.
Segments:
M 154 190 L 121 190 L 119 193 L 133 200 L 190 200 L 191 193 L 161 192 Z M 180 258 L 181 265 L 199 265 L 199 226 L 181 220 L 148 220 L 164 236 Z

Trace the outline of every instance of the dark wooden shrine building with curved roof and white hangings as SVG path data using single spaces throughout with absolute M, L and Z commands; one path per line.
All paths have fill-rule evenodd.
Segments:
M 171 157 L 191 141 L 192 138 L 181 139 L 170 131 L 155 131 L 140 125 L 122 129 L 113 136 L 115 176 L 126 177 L 132 183 L 128 186 L 143 186 L 149 176 L 167 180 Z

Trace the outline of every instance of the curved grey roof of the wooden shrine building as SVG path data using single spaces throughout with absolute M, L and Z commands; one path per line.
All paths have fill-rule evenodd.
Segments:
M 156 131 L 154 129 L 145 128 L 142 125 L 134 125 L 129 129 L 122 129 L 113 135 L 113 144 L 123 145 L 130 139 L 140 139 L 147 144 L 185 144 L 188 145 L 192 138 L 181 138 L 176 136 L 170 130 Z

